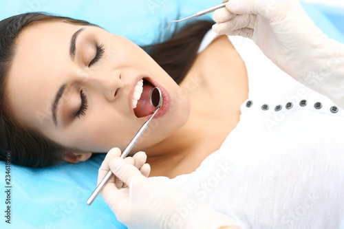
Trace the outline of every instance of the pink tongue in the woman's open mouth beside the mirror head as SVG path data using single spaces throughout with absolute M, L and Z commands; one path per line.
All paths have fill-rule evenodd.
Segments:
M 151 85 L 143 84 L 143 91 L 140 100 L 138 100 L 138 105 L 133 112 L 136 117 L 141 118 L 144 116 L 149 116 L 154 113 L 155 108 L 151 105 L 151 90 L 154 87 Z

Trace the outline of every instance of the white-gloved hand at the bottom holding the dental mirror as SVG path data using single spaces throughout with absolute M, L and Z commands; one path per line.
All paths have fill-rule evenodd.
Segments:
M 120 149 L 107 153 L 99 168 L 98 184 L 109 169 L 114 175 L 100 195 L 118 221 L 131 228 L 240 228 L 235 221 L 208 208 L 169 184 L 148 179 L 143 152 L 120 158 Z M 115 177 L 116 175 L 116 177 Z

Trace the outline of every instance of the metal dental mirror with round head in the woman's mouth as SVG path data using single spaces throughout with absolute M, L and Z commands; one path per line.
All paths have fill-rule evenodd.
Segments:
M 157 99 L 157 95 L 159 96 L 159 99 Z M 154 113 L 151 115 L 151 118 L 149 118 L 149 120 L 147 120 L 146 122 L 144 122 L 144 124 L 142 125 L 141 129 L 138 131 L 138 133 L 136 133 L 135 137 L 133 137 L 133 140 L 131 140 L 131 142 L 129 143 L 129 145 L 127 146 L 127 149 L 125 149 L 125 151 L 123 151 L 122 155 L 120 155 L 120 157 L 125 158 L 127 157 L 128 153 L 131 151 L 131 149 L 133 149 L 133 146 L 136 144 L 136 142 L 138 142 L 138 140 L 140 139 L 140 137 L 142 136 L 142 134 L 144 133 L 144 131 L 147 129 L 149 122 L 151 122 L 152 118 L 155 116 L 155 113 L 157 113 L 160 109 L 160 107 L 162 106 L 162 94 L 161 91 L 158 87 L 154 87 L 151 90 L 151 105 L 153 107 L 156 108 L 156 110 L 154 111 Z M 94 192 L 92 193 L 92 195 L 89 197 L 89 199 L 87 200 L 87 204 L 91 205 L 92 202 L 94 201 L 94 199 L 96 199 L 96 197 L 98 196 L 98 194 L 100 193 L 100 190 L 102 190 L 103 186 L 105 185 L 105 183 L 110 179 L 112 175 L 111 170 L 109 170 L 109 172 L 107 173 L 107 175 L 104 177 L 104 179 L 98 184 L 98 186 L 96 187 L 96 189 L 94 190 Z

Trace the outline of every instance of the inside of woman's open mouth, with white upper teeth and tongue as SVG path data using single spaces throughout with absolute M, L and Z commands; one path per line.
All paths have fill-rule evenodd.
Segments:
M 155 107 L 151 105 L 151 90 L 155 86 L 147 78 L 138 81 L 133 93 L 133 112 L 136 117 L 142 118 L 151 115 L 155 111 Z M 153 94 L 153 96 L 158 96 Z M 152 98 L 159 100 L 159 98 Z

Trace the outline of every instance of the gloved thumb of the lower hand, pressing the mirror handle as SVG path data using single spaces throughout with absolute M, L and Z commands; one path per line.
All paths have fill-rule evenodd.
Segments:
M 114 175 L 116 175 L 118 179 L 120 179 L 123 183 L 127 184 L 127 186 L 129 187 L 133 179 L 145 178 L 140 173 L 138 168 L 133 166 L 133 164 L 130 164 L 129 162 L 125 161 L 121 157 L 115 157 L 114 159 L 112 159 L 109 162 L 109 167 L 112 173 L 114 173 Z

